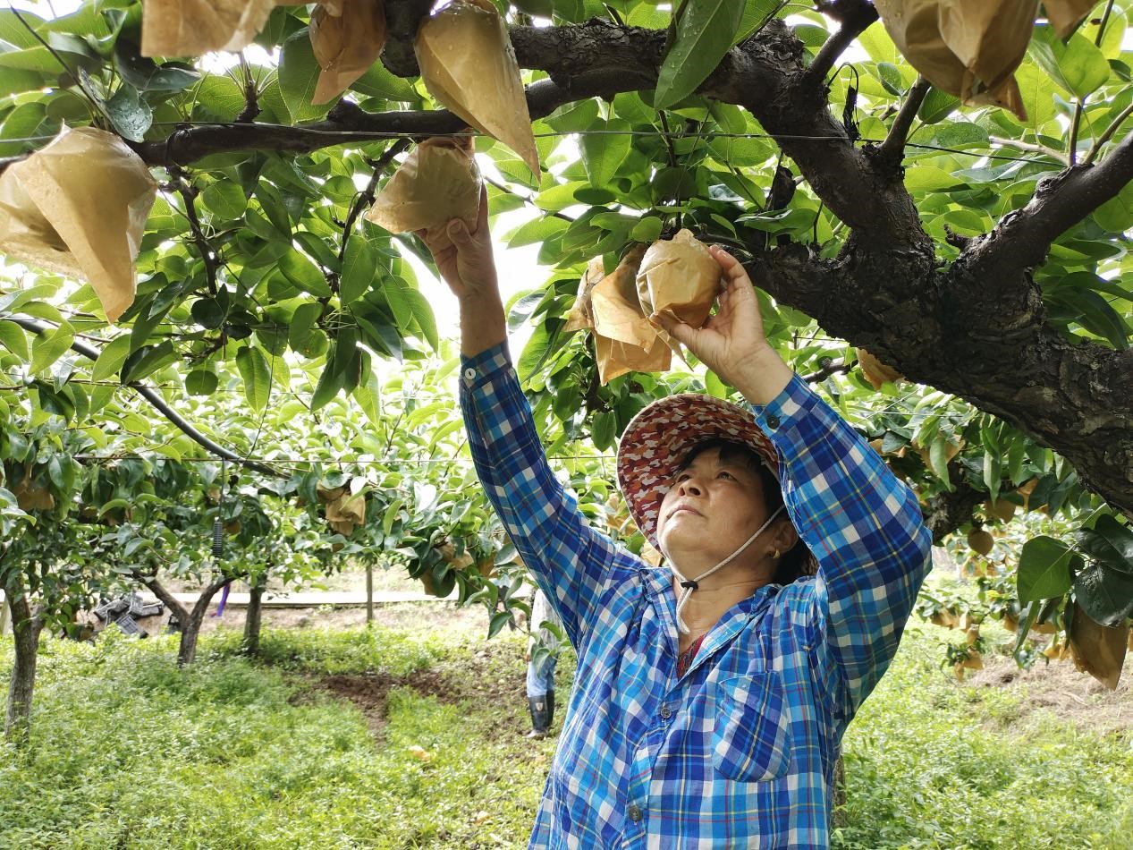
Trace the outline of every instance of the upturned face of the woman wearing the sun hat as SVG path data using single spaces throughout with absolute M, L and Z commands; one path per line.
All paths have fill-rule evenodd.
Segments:
M 766 519 L 759 471 L 742 454 L 721 458 L 721 450 L 710 448 L 673 479 L 657 516 L 657 539 L 682 572 L 696 578 L 735 552 Z M 742 560 L 760 556 L 766 547 L 757 542 Z

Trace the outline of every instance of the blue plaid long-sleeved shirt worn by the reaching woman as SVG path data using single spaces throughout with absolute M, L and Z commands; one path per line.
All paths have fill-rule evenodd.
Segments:
M 672 573 L 587 525 L 506 345 L 461 379 L 480 481 L 578 653 L 530 847 L 827 847 L 838 743 L 930 566 L 910 490 L 799 377 L 755 408 L 818 575 L 738 603 L 678 678 Z

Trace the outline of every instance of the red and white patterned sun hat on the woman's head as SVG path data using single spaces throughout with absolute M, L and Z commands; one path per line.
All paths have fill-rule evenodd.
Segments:
M 778 453 L 750 410 L 730 401 L 685 392 L 654 401 L 622 434 L 617 486 L 633 521 L 657 546 L 657 516 L 678 467 L 699 443 L 729 440 L 752 449 L 778 477 Z

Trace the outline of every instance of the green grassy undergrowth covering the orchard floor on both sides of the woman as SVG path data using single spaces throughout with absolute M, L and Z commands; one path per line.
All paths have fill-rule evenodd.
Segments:
M 0 750 L 0 848 L 526 847 L 554 743 L 521 734 L 522 637 L 482 638 L 267 630 L 254 663 L 221 631 L 188 671 L 171 638 L 45 640 L 32 745 Z M 833 845 L 1133 847 L 1133 736 L 1016 724 L 1025 698 L 957 686 L 911 628 L 847 733 Z

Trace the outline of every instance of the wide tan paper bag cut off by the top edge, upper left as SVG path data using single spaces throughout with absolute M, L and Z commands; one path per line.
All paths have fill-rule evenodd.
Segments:
M 142 56 L 201 56 L 252 43 L 276 6 L 303 0 L 146 0 Z

